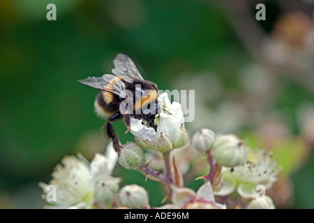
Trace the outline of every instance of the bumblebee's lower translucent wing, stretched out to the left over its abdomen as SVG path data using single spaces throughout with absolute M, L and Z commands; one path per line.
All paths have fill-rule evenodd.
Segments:
M 115 95 L 119 95 L 120 98 L 127 98 L 128 95 L 124 90 L 126 85 L 120 79 L 116 79 L 114 75 L 103 75 L 103 77 L 87 77 L 86 79 L 80 79 L 77 82 L 91 86 L 94 89 L 100 91 L 107 91 Z

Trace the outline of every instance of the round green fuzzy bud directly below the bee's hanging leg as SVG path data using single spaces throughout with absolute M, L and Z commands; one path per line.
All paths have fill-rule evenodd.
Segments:
M 137 169 L 144 160 L 144 152 L 137 144 L 131 142 L 119 152 L 119 164 L 126 169 Z

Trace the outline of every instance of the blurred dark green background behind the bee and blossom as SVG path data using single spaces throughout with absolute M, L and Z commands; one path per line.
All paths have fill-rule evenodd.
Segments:
M 312 18 L 313 1 L 0 0 L 0 208 L 41 208 L 38 182 L 64 155 L 104 152 L 97 91 L 77 79 L 110 73 L 117 53 L 159 89 L 195 90 L 190 135 L 211 128 L 272 149 L 284 167 L 279 208 L 314 208 Z M 114 175 L 160 206 L 158 183 Z

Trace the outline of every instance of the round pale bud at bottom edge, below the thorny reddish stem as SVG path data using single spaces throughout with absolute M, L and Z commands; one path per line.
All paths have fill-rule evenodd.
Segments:
M 149 206 L 147 191 L 139 185 L 126 185 L 119 192 L 119 201 L 128 208 L 145 208 Z

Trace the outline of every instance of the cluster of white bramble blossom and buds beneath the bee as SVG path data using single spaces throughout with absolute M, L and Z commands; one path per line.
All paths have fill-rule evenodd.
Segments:
M 270 197 L 256 197 L 256 186 L 266 189 L 276 181 L 278 167 L 264 150 L 253 151 L 233 134 L 216 135 L 202 129 L 196 132 L 189 143 L 184 128 L 184 114 L 178 102 L 170 102 L 167 93 L 158 97 L 158 104 L 170 114 L 161 113 L 156 120 L 158 127 L 148 128 L 142 121 L 131 119 L 130 132 L 135 142 L 121 146 L 119 157 L 112 143 L 105 155 L 97 153 L 94 160 L 87 162 L 82 155 L 63 158 L 52 173 L 49 185 L 56 188 L 55 199 L 49 185 L 40 183 L 43 198 L 50 204 L 46 208 L 151 208 L 147 191 L 138 185 L 119 187 L 121 178 L 112 176 L 117 162 L 126 169 L 135 169 L 165 183 L 170 190 L 170 203 L 159 208 L 229 208 L 227 203 L 218 203 L 217 198 L 237 194 L 246 200 L 240 208 L 274 208 Z M 179 167 L 170 160 L 176 148 L 189 146 L 200 155 L 208 157 L 209 174 L 197 192 L 184 187 Z M 165 174 L 149 168 L 144 149 L 160 153 L 165 158 Z M 167 159 L 168 158 L 168 159 Z M 50 197 L 51 198 L 51 197 Z

